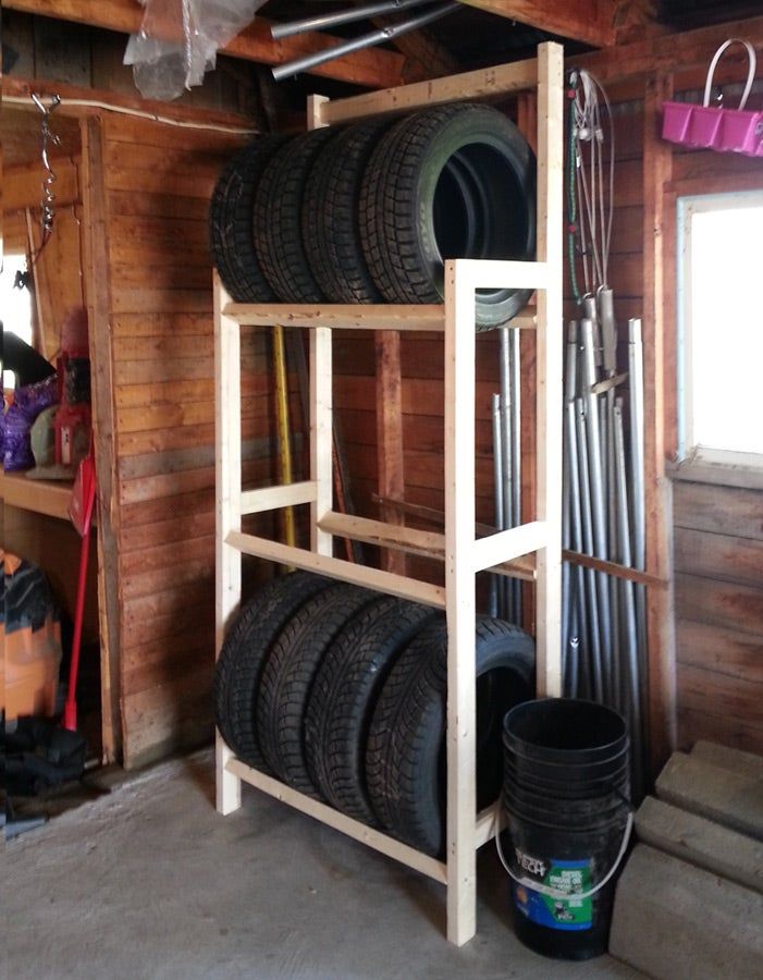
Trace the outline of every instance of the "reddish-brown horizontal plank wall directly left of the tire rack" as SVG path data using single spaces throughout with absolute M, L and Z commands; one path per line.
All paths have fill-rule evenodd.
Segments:
M 214 412 L 209 199 L 241 144 L 103 121 L 127 768 L 211 736 Z M 266 338 L 243 343 L 245 479 L 267 481 Z

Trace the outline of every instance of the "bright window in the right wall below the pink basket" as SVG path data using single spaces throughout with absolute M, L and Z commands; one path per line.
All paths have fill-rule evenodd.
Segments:
M 763 191 L 678 201 L 679 450 L 763 467 Z

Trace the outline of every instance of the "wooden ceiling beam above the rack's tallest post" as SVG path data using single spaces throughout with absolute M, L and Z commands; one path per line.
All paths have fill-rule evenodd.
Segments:
M 462 0 L 462 3 L 596 48 L 614 45 L 616 39 L 615 0 L 576 0 L 575 3 L 569 0 Z

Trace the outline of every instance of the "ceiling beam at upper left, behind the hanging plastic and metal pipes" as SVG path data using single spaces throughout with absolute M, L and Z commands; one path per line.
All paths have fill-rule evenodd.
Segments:
M 136 0 L 5 0 L 4 7 L 122 34 L 136 34 L 143 21 L 143 10 Z M 331 48 L 339 40 L 324 34 L 300 34 L 273 40 L 269 22 L 258 16 L 221 53 L 261 64 L 283 64 Z M 369 48 L 317 65 L 310 73 L 369 88 L 386 88 L 401 84 L 404 62 L 405 58 L 396 51 Z

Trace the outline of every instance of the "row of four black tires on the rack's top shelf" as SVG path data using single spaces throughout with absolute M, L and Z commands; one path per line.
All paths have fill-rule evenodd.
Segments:
M 534 180 L 519 131 L 481 105 L 263 136 L 218 181 L 212 255 L 239 303 L 442 303 L 444 259 L 534 257 Z M 478 330 L 528 298 L 481 290 Z

